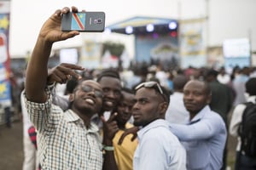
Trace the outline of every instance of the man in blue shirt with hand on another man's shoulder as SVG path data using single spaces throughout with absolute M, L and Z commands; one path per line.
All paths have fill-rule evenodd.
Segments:
M 171 123 L 170 128 L 185 147 L 187 168 L 220 169 L 227 132 L 221 116 L 209 107 L 211 90 L 207 82 L 189 81 L 183 88 L 183 101 L 189 111 L 189 122 Z

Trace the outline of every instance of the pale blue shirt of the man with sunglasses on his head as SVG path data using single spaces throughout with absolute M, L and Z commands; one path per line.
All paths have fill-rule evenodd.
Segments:
M 134 170 L 186 169 L 186 152 L 168 126 L 166 120 L 158 119 L 138 131 Z

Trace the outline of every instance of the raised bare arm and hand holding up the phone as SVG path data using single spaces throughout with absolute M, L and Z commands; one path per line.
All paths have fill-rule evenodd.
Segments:
M 78 9 L 72 7 L 73 12 Z M 61 31 L 61 14 L 68 13 L 70 8 L 62 8 L 55 11 L 42 26 L 36 45 L 32 51 L 32 57 L 26 69 L 25 92 L 27 99 L 44 103 L 47 94 L 44 88 L 47 83 L 47 63 L 54 42 L 66 40 L 79 35 L 79 31 Z

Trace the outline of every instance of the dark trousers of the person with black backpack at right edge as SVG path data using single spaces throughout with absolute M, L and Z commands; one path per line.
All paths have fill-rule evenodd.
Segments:
M 236 163 L 235 170 L 255 170 L 256 169 L 256 157 L 248 157 L 240 154 L 236 151 Z

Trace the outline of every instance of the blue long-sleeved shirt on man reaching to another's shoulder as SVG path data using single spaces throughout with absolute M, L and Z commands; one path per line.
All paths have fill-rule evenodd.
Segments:
M 171 131 L 187 152 L 187 168 L 218 170 L 222 167 L 226 127 L 218 113 L 207 105 L 188 125 L 171 124 Z

